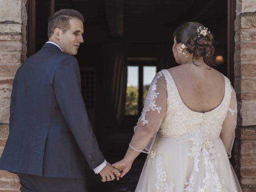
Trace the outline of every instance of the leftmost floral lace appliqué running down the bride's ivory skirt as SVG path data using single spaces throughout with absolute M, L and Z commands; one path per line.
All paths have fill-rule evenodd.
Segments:
M 170 183 L 166 182 L 167 174 L 166 171 L 162 170 L 162 157 L 157 155 L 156 152 L 151 151 L 148 154 L 148 164 L 150 160 L 153 159 L 154 170 L 155 170 L 155 178 L 156 183 L 155 187 L 158 189 L 159 192 L 174 192 L 175 184 L 170 181 Z

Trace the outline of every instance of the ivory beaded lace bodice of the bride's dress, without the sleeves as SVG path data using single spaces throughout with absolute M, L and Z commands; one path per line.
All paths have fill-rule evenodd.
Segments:
M 200 133 L 203 113 L 190 110 L 182 101 L 178 88 L 168 70 L 162 70 L 166 79 L 167 108 L 159 129 L 159 134 L 166 137 L 196 136 Z M 222 102 L 210 112 L 205 113 L 205 135 L 219 135 L 222 123 L 230 106 L 232 87 L 225 78 L 225 93 Z

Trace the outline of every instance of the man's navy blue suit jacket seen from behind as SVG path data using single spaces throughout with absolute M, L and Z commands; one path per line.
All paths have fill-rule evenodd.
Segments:
M 47 43 L 17 70 L 10 134 L 0 169 L 59 178 L 85 178 L 105 160 L 92 132 L 74 56 Z

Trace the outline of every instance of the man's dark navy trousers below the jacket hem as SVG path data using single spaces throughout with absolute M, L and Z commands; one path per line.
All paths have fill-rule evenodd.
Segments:
M 20 174 L 23 192 L 88 192 L 85 179 L 40 177 Z

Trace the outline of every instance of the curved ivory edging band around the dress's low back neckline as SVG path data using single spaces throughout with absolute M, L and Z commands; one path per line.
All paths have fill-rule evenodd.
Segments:
M 182 100 L 182 98 L 181 98 L 181 96 L 180 96 L 180 93 L 179 93 L 179 91 L 178 91 L 178 88 L 177 88 L 177 86 L 176 86 L 176 83 L 175 83 L 174 79 L 172 78 L 172 75 L 170 74 L 170 72 L 169 72 L 167 69 L 165 69 L 165 70 L 166 70 L 166 73 L 168 74 L 168 76 L 170 77 L 170 80 L 171 80 L 171 81 L 173 82 L 173 84 L 174 84 L 174 89 L 175 89 L 175 92 L 176 92 L 176 95 L 177 95 L 178 100 L 182 103 L 182 106 L 183 106 L 188 112 L 191 112 L 191 113 L 194 113 L 194 114 L 198 114 L 198 115 L 212 114 L 212 113 L 214 113 L 216 110 L 218 110 L 218 109 L 222 106 L 222 104 L 224 103 L 224 100 L 226 100 L 226 95 L 227 95 L 227 82 L 226 82 L 225 76 L 222 74 L 222 76 L 223 76 L 223 78 L 224 78 L 224 81 L 225 81 L 225 88 L 224 88 L 224 96 L 223 96 L 222 101 L 220 102 L 220 104 L 218 104 L 218 106 L 216 106 L 214 109 L 212 109 L 212 110 L 210 110 L 210 111 L 208 111 L 208 112 L 197 112 L 197 111 L 194 111 L 194 110 L 188 108 L 188 106 L 185 105 L 185 103 L 183 102 L 183 100 Z

